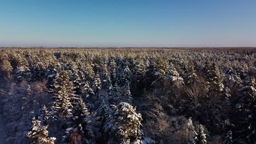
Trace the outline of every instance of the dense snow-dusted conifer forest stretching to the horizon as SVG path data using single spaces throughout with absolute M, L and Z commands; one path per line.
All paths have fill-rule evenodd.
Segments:
M 0 143 L 256 143 L 256 49 L 0 49 Z

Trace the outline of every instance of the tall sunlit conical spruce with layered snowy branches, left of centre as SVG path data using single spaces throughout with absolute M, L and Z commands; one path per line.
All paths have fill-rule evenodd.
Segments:
M 53 115 L 57 117 L 70 117 L 72 116 L 72 110 L 76 95 L 74 94 L 74 87 L 72 82 L 69 82 L 69 76 L 65 70 L 62 70 L 54 82 L 53 93 Z

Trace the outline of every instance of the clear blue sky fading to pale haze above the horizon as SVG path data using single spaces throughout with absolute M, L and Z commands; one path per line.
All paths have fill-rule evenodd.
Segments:
M 0 0 L 0 46 L 256 46 L 256 1 Z

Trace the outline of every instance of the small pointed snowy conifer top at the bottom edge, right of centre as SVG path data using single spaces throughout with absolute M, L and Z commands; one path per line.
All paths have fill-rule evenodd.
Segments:
M 190 140 L 189 144 L 206 144 L 207 143 L 205 129 L 201 124 L 197 125 L 194 133 L 195 135 L 193 137 L 193 140 Z

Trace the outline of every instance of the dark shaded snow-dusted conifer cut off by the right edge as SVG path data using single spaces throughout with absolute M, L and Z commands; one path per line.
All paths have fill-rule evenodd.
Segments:
M 239 128 L 245 141 L 256 142 L 256 83 L 253 77 L 248 77 L 243 86 L 238 90 L 239 102 L 236 104 L 240 116 Z

